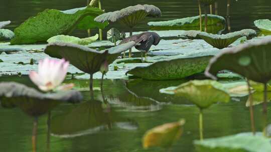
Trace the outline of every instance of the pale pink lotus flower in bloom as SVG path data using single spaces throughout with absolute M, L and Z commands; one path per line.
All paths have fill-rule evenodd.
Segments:
M 30 71 L 30 79 L 43 91 L 49 91 L 59 86 L 65 79 L 69 61 L 45 58 L 39 61 L 38 73 Z

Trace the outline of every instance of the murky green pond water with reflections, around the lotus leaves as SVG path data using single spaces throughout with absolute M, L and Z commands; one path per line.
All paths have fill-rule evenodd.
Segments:
M 219 15 L 226 14 L 226 0 L 219 3 Z M 135 31 L 148 30 L 151 20 L 169 20 L 194 16 L 196 0 L 105 0 L 103 8 L 113 11 L 128 5 L 148 3 L 161 8 L 161 18 L 147 18 Z M 81 7 L 85 0 L 2 0 L 0 20 L 12 20 L 7 28 L 14 29 L 29 16 L 45 8 L 70 9 Z M 253 28 L 253 21 L 271 18 L 270 0 L 232 0 L 232 30 Z M 75 35 L 86 36 L 76 30 Z M 17 81 L 33 86 L 28 76 L 2 76 L 0 81 Z M 159 93 L 159 89 L 179 85 L 184 80 L 151 81 L 142 79 L 94 80 L 95 100 L 90 99 L 88 80 L 70 80 L 81 90 L 84 101 L 60 104 L 52 111 L 51 151 L 165 151 L 162 148 L 144 150 L 145 131 L 171 121 L 186 119 L 183 136 L 172 151 L 194 151 L 193 140 L 199 138 L 198 108 L 183 98 Z M 220 80 L 227 82 L 228 80 Z M 236 80 L 240 81 L 240 80 Z M 247 96 L 232 98 L 230 103 L 215 104 L 204 110 L 204 137 L 219 137 L 250 131 Z M 256 130 L 261 131 L 261 105 L 255 108 Z M 270 112 L 269 112 L 270 113 Z M 38 151 L 47 150 L 47 115 L 39 118 Z M 83 120 L 83 121 L 80 121 Z M 31 151 L 33 118 L 19 108 L 0 107 L 0 151 Z

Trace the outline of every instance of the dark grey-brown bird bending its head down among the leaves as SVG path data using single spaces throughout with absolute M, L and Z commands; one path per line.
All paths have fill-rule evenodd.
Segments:
M 148 52 L 152 45 L 157 45 L 161 38 L 156 32 L 144 32 L 141 34 L 131 35 L 123 39 L 119 44 L 123 44 L 129 41 L 136 43 L 135 48 L 141 51 Z

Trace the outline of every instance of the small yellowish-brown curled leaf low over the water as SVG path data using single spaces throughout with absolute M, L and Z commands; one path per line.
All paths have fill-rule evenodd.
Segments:
M 143 147 L 159 146 L 168 148 L 182 135 L 185 120 L 165 123 L 148 130 L 143 137 Z

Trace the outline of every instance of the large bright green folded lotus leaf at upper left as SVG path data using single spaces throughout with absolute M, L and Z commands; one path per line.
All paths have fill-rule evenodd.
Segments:
M 15 37 L 11 40 L 11 44 L 45 42 L 55 35 L 67 35 L 75 28 L 104 28 L 107 22 L 98 23 L 93 20 L 95 16 L 102 13 L 101 9 L 90 6 L 65 11 L 46 9 L 15 28 Z

